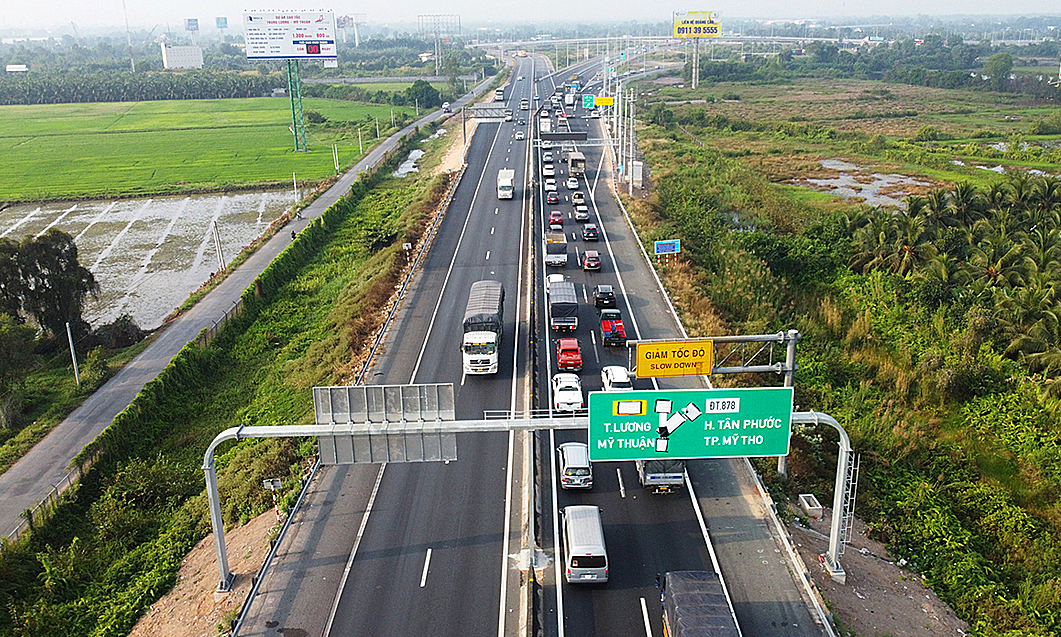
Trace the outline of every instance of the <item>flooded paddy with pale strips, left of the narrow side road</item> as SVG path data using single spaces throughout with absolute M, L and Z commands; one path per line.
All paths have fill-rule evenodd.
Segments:
M 227 265 L 293 203 L 268 191 L 20 205 L 0 210 L 0 238 L 70 235 L 100 285 L 85 320 L 129 314 L 153 329 L 219 270 L 218 245 Z

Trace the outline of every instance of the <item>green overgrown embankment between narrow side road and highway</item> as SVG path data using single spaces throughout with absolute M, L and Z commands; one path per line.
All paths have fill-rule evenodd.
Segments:
M 199 467 L 214 435 L 309 423 L 311 388 L 356 368 L 404 268 L 400 246 L 418 242 L 449 178 L 388 171 L 314 220 L 244 294 L 244 314 L 206 349 L 186 347 L 85 450 L 100 455 L 80 486 L 0 553 L 0 635 L 126 634 L 209 532 Z M 294 440 L 222 448 L 226 523 L 271 505 L 264 478 L 292 497 L 314 451 Z

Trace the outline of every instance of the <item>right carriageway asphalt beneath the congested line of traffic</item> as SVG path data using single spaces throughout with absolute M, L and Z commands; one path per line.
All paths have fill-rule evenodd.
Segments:
M 584 84 L 596 70 L 586 66 L 572 69 L 584 79 Z M 599 78 L 595 82 L 591 80 L 582 90 L 593 92 L 598 88 L 598 81 Z M 549 82 L 540 86 L 539 91 L 547 94 L 551 88 L 552 82 Z M 590 194 L 590 222 L 601 228 L 602 240 L 597 243 L 581 240 L 581 224 L 571 216 L 571 191 L 562 186 L 569 176 L 562 162 L 556 163 L 560 205 L 539 205 L 535 229 L 536 242 L 540 245 L 549 211 L 560 209 L 564 212 L 564 230 L 572 258 L 562 273 L 575 283 L 585 300 L 574 335 L 582 349 L 585 366 L 579 377 L 588 395 L 602 389 L 599 372 L 603 366 L 628 364 L 625 348 L 605 348 L 598 333 L 594 333 L 597 327 L 592 305 L 594 286 L 610 283 L 615 288 L 628 338 L 677 339 L 682 332 L 609 189 L 611 163 L 603 156 L 604 148 L 594 144 L 605 135 L 605 120 L 588 118 L 578 102 L 574 108 L 566 110 L 572 131 L 589 133 L 589 143 L 575 144 L 587 158 L 586 178 L 580 179 L 579 189 Z M 540 157 L 539 153 L 536 157 L 539 170 Z M 543 202 L 544 193 L 538 194 L 537 201 Z M 603 268 L 599 272 L 585 272 L 579 266 L 577 257 L 586 249 L 601 252 Z M 538 307 L 544 311 L 544 277 L 559 270 L 546 271 L 540 255 L 536 263 Z M 539 324 L 547 325 L 544 315 Z M 545 338 L 543 333 L 539 339 L 538 360 L 542 369 L 538 392 L 542 396 L 547 396 L 546 379 L 556 371 L 555 338 L 555 334 Z M 695 378 L 658 382 L 641 379 L 634 381 L 634 386 L 650 390 L 702 384 Z M 745 635 L 810 637 L 822 634 L 788 571 L 743 460 L 690 462 L 695 499 L 690 493 L 654 495 L 642 489 L 630 462 L 594 463 L 591 490 L 563 490 L 555 488 L 558 484 L 555 449 L 569 441 L 587 442 L 586 432 L 546 432 L 539 435 L 537 446 L 541 500 L 545 504 L 538 526 L 540 543 L 554 555 L 554 568 L 546 573 L 545 607 L 541 613 L 542 617 L 554 618 L 545 622 L 546 635 L 660 635 L 662 620 L 656 575 L 667 570 L 712 569 L 706 534 L 712 538 L 718 566 L 728 580 Z M 610 558 L 610 580 L 606 585 L 556 585 L 557 581 L 562 582 L 559 563 L 555 559 L 559 547 L 558 512 L 571 504 L 594 504 L 602 510 Z

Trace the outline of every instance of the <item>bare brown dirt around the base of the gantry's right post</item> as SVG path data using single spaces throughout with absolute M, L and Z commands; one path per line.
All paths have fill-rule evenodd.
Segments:
M 808 522 L 810 528 L 794 522 L 788 531 L 836 617 L 840 635 L 960 637 L 969 632 L 969 624 L 920 575 L 898 566 L 884 545 L 866 537 L 862 520 L 855 520 L 851 541 L 840 557 L 847 583 L 833 582 L 819 563 L 819 555 L 829 550 L 829 511 L 824 519 Z

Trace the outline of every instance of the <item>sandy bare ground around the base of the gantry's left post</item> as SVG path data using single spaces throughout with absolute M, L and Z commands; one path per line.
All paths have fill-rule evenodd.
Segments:
M 225 531 L 228 566 L 236 580 L 232 591 L 214 600 L 218 585 L 218 554 L 213 534 L 195 545 L 180 564 L 177 585 L 155 602 L 131 637 L 215 637 L 226 635 L 250 591 L 251 579 L 268 554 L 271 531 L 276 526 L 276 513 L 268 511 L 246 524 Z M 225 632 L 218 630 L 224 623 Z

